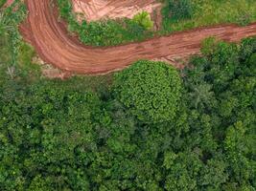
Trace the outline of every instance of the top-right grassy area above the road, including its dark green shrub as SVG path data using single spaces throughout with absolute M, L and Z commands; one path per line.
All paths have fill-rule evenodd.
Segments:
M 256 1 L 166 0 L 162 12 L 165 33 L 228 23 L 244 26 L 256 21 Z

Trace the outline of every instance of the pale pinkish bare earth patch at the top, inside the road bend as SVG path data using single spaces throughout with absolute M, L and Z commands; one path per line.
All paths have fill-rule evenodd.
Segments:
M 132 18 L 140 11 L 150 14 L 161 7 L 156 0 L 72 0 L 73 11 L 86 21 L 100 20 L 103 18 Z

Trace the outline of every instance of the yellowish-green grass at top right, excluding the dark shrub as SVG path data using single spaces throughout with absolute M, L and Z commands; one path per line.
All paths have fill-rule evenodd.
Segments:
M 169 18 L 167 11 L 163 10 L 163 32 L 186 31 L 229 23 L 247 25 L 256 21 L 254 0 L 192 0 L 192 5 L 194 13 L 189 19 Z

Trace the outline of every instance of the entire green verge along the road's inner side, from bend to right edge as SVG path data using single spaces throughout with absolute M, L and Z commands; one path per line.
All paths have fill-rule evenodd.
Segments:
M 157 32 L 151 30 L 146 12 L 132 19 L 79 23 L 70 0 L 58 0 L 58 9 L 69 32 L 77 33 L 82 43 L 91 46 L 114 46 L 198 27 L 230 23 L 244 26 L 256 21 L 256 1 L 252 0 L 164 0 L 163 4 L 162 29 Z

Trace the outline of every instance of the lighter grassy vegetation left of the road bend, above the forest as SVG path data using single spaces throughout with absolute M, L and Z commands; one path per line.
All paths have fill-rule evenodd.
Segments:
M 4 80 L 6 74 L 11 78 L 17 75 L 29 75 L 28 63 L 35 53 L 22 41 L 18 32 L 18 24 L 25 16 L 26 7 L 18 0 L 15 0 L 9 8 L 0 10 L 0 80 Z

